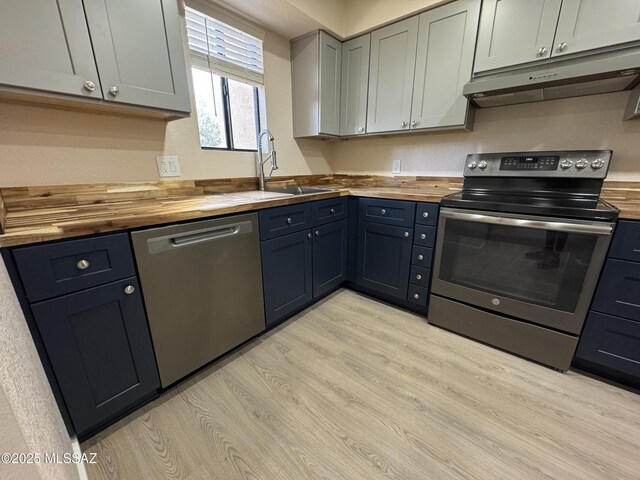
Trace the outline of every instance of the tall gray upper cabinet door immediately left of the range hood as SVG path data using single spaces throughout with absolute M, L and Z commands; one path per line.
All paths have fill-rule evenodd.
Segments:
M 463 126 L 480 2 L 462 0 L 420 15 L 411 129 Z

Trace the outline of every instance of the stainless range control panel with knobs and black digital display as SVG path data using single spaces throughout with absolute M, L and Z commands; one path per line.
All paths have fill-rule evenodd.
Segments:
M 475 153 L 467 155 L 464 176 L 603 179 L 611 155 L 611 150 Z

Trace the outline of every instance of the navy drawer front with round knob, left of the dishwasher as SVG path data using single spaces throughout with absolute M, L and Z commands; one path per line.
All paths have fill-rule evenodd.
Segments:
M 13 250 L 30 302 L 135 275 L 126 233 Z

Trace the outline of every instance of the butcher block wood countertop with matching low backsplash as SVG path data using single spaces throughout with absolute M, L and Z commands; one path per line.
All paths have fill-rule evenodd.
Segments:
M 26 245 L 340 196 L 439 202 L 462 178 L 307 175 L 282 177 L 269 188 L 313 186 L 310 195 L 260 192 L 255 178 L 0 189 L 0 246 Z M 621 218 L 640 219 L 640 183 L 608 182 L 602 197 Z

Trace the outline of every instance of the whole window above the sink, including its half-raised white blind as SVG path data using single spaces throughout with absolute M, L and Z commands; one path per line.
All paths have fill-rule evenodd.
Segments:
M 255 151 L 263 128 L 262 41 L 189 7 L 186 18 L 200 146 Z

